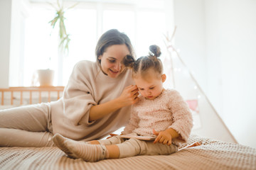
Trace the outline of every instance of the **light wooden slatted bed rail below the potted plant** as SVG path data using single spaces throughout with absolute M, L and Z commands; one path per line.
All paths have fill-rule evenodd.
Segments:
M 38 103 L 42 103 L 42 94 L 47 93 L 48 94 L 48 102 L 52 101 L 51 96 L 52 92 L 57 93 L 56 99 L 58 100 L 63 93 L 64 86 L 16 86 L 16 87 L 9 87 L 7 89 L 0 89 L 1 93 L 1 106 L 6 105 L 4 101 L 6 100 L 5 94 L 11 94 L 11 98 L 9 99 L 11 101 L 11 105 L 14 105 L 14 99 L 19 98 L 18 100 L 19 105 L 23 105 L 24 100 L 24 93 L 28 93 L 29 95 L 26 96 L 28 98 L 27 104 L 32 104 L 33 95 L 34 93 L 38 94 Z M 14 96 L 14 93 L 18 93 L 19 96 Z

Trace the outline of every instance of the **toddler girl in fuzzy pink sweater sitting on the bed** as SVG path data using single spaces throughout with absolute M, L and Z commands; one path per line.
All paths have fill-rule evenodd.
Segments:
M 139 102 L 132 106 L 131 118 L 122 135 L 154 137 L 154 140 L 116 135 L 107 140 L 78 142 L 56 134 L 55 145 L 70 157 L 97 162 L 136 155 L 172 154 L 181 143 L 187 142 L 193 127 L 191 112 L 178 91 L 163 87 L 166 74 L 158 58 L 160 48 L 151 45 L 149 50 L 149 55 L 136 61 L 130 55 L 123 61 L 125 67 L 132 68 L 132 77 L 141 95 Z

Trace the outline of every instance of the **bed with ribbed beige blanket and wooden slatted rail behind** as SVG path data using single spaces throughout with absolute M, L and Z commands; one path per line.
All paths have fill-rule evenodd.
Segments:
M 0 93 L 4 91 L 4 95 L 0 94 L 3 103 L 0 109 L 6 105 L 11 107 L 57 100 L 63 89 L 64 87 L 0 89 Z M 183 148 L 167 156 L 137 156 L 95 163 L 71 159 L 57 147 L 0 147 L 0 169 L 256 169 L 255 148 L 192 134 L 188 145 L 193 142 L 201 142 L 202 145 Z

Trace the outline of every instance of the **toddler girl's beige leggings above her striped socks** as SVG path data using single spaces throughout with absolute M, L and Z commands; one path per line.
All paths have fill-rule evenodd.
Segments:
M 119 135 L 107 140 L 98 140 L 102 145 L 117 145 L 119 147 L 119 158 L 133 157 L 136 155 L 167 155 L 178 151 L 176 145 L 154 144 L 153 141 L 124 139 Z

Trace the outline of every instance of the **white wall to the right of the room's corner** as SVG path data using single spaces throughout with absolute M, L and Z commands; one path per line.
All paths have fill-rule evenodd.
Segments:
M 209 90 L 209 96 L 221 108 L 221 116 L 238 142 L 256 148 L 256 1 L 207 1 L 206 9 L 213 5 L 215 10 L 206 13 L 211 16 L 208 21 L 216 23 L 208 22 L 207 37 L 209 42 L 215 39 L 210 27 L 217 25 L 218 45 L 208 44 L 212 49 L 211 55 L 208 53 L 208 82 L 211 89 L 210 81 L 217 81 L 215 89 L 222 93 Z M 216 56 L 219 67 L 214 68 L 210 61 Z M 221 74 L 216 77 L 218 68 Z

